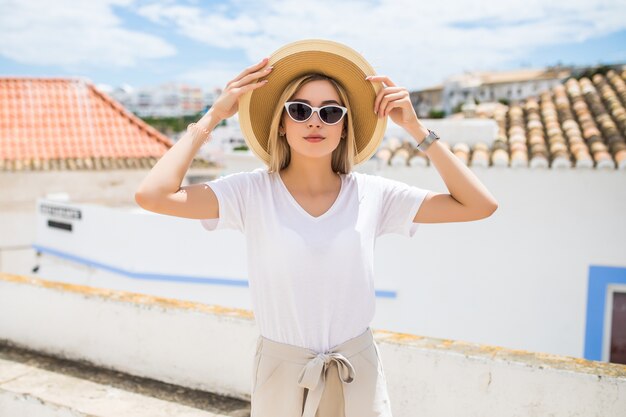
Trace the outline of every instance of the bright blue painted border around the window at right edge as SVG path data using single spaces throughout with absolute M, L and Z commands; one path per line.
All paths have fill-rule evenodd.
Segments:
M 606 308 L 606 294 L 609 284 L 626 284 L 626 268 L 589 266 L 585 359 L 602 360 L 604 310 Z

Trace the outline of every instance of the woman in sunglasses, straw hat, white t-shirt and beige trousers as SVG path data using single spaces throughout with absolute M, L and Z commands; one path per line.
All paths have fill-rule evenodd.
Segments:
M 386 76 L 365 77 L 373 70 L 354 50 L 308 40 L 271 60 L 282 75 L 270 76 L 266 58 L 231 80 L 152 168 L 136 200 L 157 213 L 201 219 L 207 230 L 246 235 L 260 329 L 252 417 L 388 417 L 369 327 L 376 238 L 413 236 L 418 223 L 485 218 L 497 203 L 448 149 L 423 142 L 435 136 L 406 89 Z M 266 94 L 272 85 L 274 96 Z M 238 110 L 246 140 L 267 168 L 181 187 L 210 131 Z M 376 150 L 387 116 L 423 145 L 451 194 L 352 170 Z

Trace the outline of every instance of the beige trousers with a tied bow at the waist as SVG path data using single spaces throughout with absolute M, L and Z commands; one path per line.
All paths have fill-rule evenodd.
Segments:
M 371 328 L 325 353 L 259 336 L 251 417 L 392 417 Z

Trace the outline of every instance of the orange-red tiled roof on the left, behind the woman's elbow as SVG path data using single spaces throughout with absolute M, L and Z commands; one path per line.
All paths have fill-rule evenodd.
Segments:
M 150 168 L 172 146 L 86 79 L 0 77 L 0 171 Z

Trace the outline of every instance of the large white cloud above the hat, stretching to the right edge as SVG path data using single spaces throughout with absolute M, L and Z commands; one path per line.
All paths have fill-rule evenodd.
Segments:
M 582 41 L 626 27 L 623 1 L 274 0 L 231 4 L 228 9 L 201 9 L 154 2 L 137 12 L 155 22 L 168 22 L 184 36 L 207 45 L 241 49 L 250 63 L 287 42 L 333 39 L 361 52 L 378 73 L 408 88 L 439 83 L 463 70 L 496 69 L 524 59 L 539 46 Z

